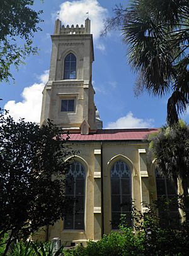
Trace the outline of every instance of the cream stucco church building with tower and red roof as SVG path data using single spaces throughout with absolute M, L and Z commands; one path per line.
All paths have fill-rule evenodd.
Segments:
M 103 129 L 94 102 L 95 58 L 89 18 L 81 27 L 64 27 L 60 20 L 55 21 L 51 38 L 49 82 L 43 90 L 40 125 L 52 119 L 69 131 L 68 143 L 80 151 L 66 175 L 68 182 L 74 178 L 66 194 L 77 200 L 74 214 L 56 222 L 38 238 L 84 244 L 117 230 L 120 214 L 126 214 L 132 225 L 132 201 L 144 212 L 141 202 L 150 204 L 159 195 L 169 198 L 177 191 L 146 161 L 149 144 L 145 138 L 157 129 Z

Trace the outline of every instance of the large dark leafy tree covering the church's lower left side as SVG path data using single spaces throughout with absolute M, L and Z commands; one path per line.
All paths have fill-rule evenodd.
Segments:
M 0 118 L 0 238 L 26 238 L 42 226 L 71 212 L 72 200 L 65 197 L 64 174 L 72 155 L 50 121 L 36 123 L 10 116 Z

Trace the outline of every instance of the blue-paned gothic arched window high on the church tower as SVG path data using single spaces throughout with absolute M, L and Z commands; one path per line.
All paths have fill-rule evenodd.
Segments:
M 64 79 L 76 79 L 76 56 L 72 53 L 64 59 Z

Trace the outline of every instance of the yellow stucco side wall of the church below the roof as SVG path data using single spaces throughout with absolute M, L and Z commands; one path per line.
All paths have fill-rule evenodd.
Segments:
M 67 245 L 71 241 L 85 243 L 89 239 L 99 240 L 101 238 L 101 169 L 103 169 L 104 233 L 111 231 L 110 169 L 115 162 L 118 160 L 126 162 L 132 171 L 132 199 L 135 200 L 135 206 L 138 209 L 142 210 L 142 195 L 151 200 L 151 195 L 155 193 L 154 188 L 156 188 L 151 170 L 147 170 L 149 174 L 147 177 L 141 178 L 140 174 L 140 169 L 144 171 L 145 164 L 143 162 L 140 168 L 139 149 L 143 150 L 142 154 L 145 154 L 144 151 L 148 147 L 146 143 L 103 142 L 101 145 L 100 142 L 81 142 L 72 143 L 71 147 L 73 150 L 80 150 L 80 154 L 74 157 L 74 160 L 81 162 L 86 169 L 85 229 L 64 230 L 63 221 L 49 227 L 49 240 L 59 237 L 62 241 L 68 241 Z M 101 165 L 101 154 L 103 165 Z M 141 183 L 144 183 L 143 191 Z

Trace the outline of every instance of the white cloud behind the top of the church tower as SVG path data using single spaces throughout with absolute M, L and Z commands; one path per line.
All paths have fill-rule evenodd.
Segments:
M 91 33 L 95 40 L 95 46 L 101 51 L 105 50 L 105 46 L 99 41 L 100 32 L 103 28 L 103 20 L 108 14 L 108 10 L 103 8 L 97 0 L 79 0 L 66 1 L 60 4 L 59 19 L 64 25 L 84 25 L 86 13 L 89 11 L 91 20 Z M 55 15 L 53 15 L 55 17 Z M 96 41 L 97 40 L 97 41 Z

